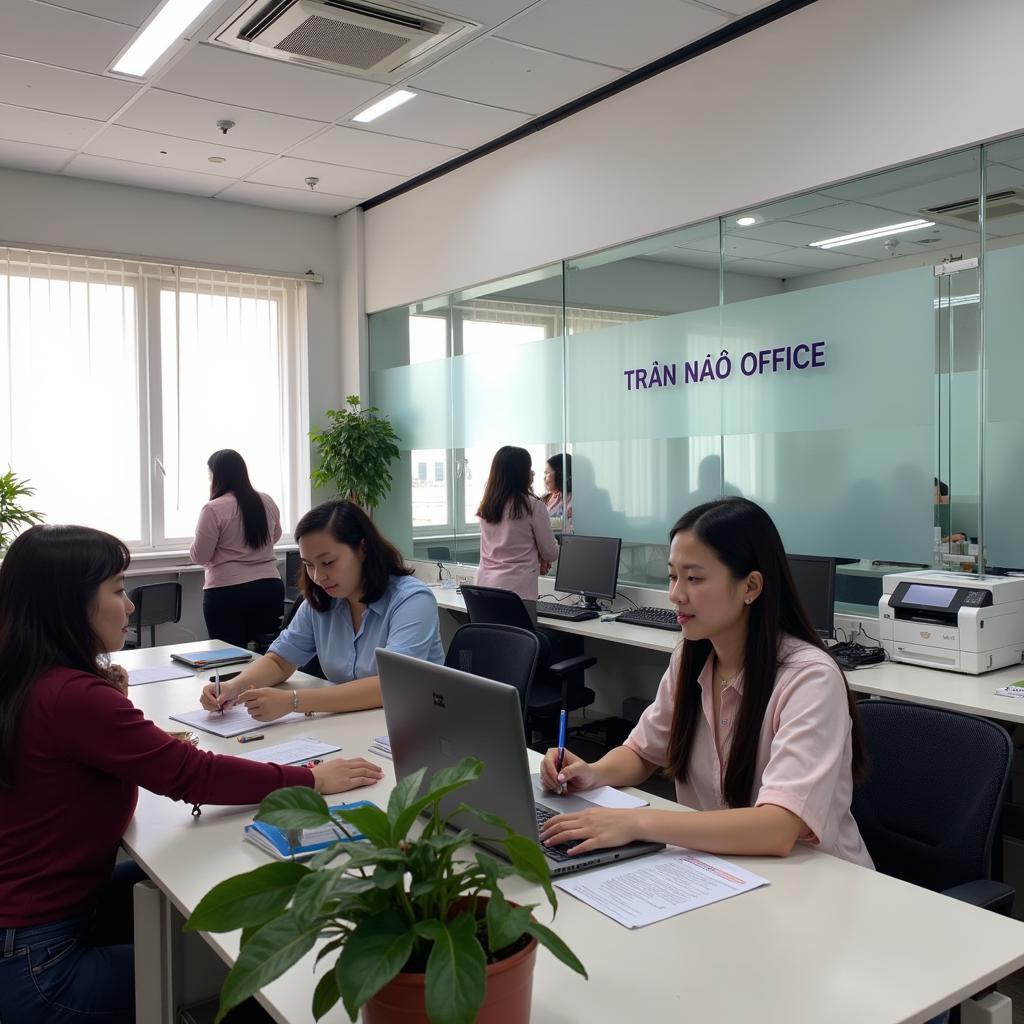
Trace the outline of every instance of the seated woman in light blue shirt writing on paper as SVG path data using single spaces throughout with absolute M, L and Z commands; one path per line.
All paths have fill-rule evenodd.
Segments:
M 365 711 L 381 706 L 378 647 L 444 660 L 433 594 L 362 509 L 340 499 L 317 505 L 299 520 L 295 540 L 305 600 L 266 656 L 221 685 L 219 698 L 212 684 L 204 688 L 204 708 L 244 703 L 260 722 L 293 711 Z M 278 688 L 313 655 L 343 685 Z

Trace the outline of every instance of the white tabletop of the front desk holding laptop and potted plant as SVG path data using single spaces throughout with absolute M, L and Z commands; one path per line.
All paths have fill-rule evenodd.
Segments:
M 586 625 L 586 624 L 582 624 Z M 652 631 L 653 632 L 653 631 Z M 163 665 L 170 650 L 197 644 L 125 651 L 127 668 Z M 203 676 L 131 688 L 131 697 L 158 725 L 198 705 Z M 384 732 L 382 711 L 322 716 L 266 730 L 263 743 L 302 734 L 367 756 Z M 203 733 L 201 746 L 238 754 L 263 743 Z M 394 784 L 385 778 L 353 791 L 352 799 L 385 806 Z M 486 760 L 485 750 L 481 757 Z M 343 798 L 344 799 L 344 798 Z M 656 806 L 675 805 L 653 800 Z M 142 791 L 125 836 L 128 851 L 187 914 L 214 884 L 267 863 L 242 841 L 252 808 L 204 809 Z M 624 1020 L 759 1021 L 765 1024 L 872 1024 L 925 1021 L 941 1009 L 1024 966 L 1024 924 L 897 882 L 809 849 L 784 859 L 741 858 L 769 879 L 765 889 L 636 931 L 561 894 L 556 931 L 587 966 L 584 981 L 547 951 L 538 955 L 534 1024 L 621 1024 Z M 539 890 L 510 881 L 508 894 L 542 902 Z M 542 912 L 541 921 L 550 921 Z M 207 937 L 227 962 L 236 935 Z M 274 1018 L 309 1024 L 313 954 L 261 994 Z M 336 1007 L 328 1024 L 347 1020 Z

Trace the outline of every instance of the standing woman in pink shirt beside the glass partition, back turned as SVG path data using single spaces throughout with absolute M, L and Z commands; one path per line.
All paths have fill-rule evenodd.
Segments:
M 537 600 L 537 579 L 558 557 L 548 510 L 530 489 L 532 482 L 529 453 L 506 444 L 495 453 L 476 510 L 480 521 L 477 584 L 511 590 L 525 601 Z

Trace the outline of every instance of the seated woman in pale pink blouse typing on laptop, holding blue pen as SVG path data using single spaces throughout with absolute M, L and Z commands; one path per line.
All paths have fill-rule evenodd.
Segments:
M 549 790 L 636 785 L 663 769 L 699 814 L 595 809 L 551 818 L 571 853 L 649 840 L 725 855 L 797 843 L 873 866 L 850 812 L 866 772 L 839 666 L 808 622 L 771 518 L 744 498 L 687 512 L 670 535 L 669 598 L 683 631 L 654 702 L 623 746 L 588 764 L 549 751 Z

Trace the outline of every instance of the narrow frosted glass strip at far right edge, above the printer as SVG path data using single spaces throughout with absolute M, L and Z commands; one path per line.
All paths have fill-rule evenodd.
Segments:
M 985 422 L 987 561 L 1024 566 L 1024 248 L 985 256 L 985 345 L 988 374 Z

